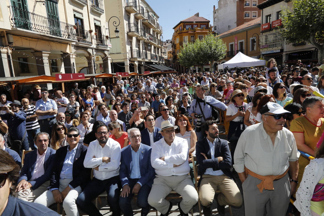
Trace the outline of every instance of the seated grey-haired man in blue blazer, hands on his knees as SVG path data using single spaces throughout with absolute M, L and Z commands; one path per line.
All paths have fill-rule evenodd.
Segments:
M 122 191 L 119 206 L 124 216 L 133 216 L 131 200 L 137 194 L 137 205 L 142 208 L 141 216 L 146 216 L 150 210 L 147 202 L 155 178 L 151 166 L 151 147 L 141 143 L 141 133 L 137 128 L 127 131 L 130 145 L 121 150 L 121 165 L 119 177 Z

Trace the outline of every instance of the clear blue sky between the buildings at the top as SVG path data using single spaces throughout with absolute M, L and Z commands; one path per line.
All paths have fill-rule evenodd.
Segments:
M 146 2 L 160 17 L 163 41 L 172 39 L 174 32 L 172 28 L 181 20 L 198 12 L 200 17 L 210 20 L 210 24 L 213 25 L 213 6 L 217 6 L 217 0 L 146 0 Z

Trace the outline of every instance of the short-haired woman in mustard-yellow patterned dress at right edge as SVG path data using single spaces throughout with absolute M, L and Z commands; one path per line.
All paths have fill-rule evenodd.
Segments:
M 323 98 L 317 96 L 305 97 L 302 106 L 306 114 L 291 121 L 290 131 L 293 132 L 295 137 L 297 149 L 314 157 L 316 144 L 324 131 Z M 309 164 L 309 159 L 301 156 L 298 159 L 298 164 L 298 182 L 301 182 L 304 169 Z M 297 183 L 298 187 L 299 183 Z

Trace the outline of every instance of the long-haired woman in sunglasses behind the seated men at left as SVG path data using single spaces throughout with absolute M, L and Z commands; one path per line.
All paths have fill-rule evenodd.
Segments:
M 56 122 L 53 125 L 50 147 L 54 150 L 58 150 L 62 146 L 68 145 L 66 142 L 67 129 L 62 122 Z

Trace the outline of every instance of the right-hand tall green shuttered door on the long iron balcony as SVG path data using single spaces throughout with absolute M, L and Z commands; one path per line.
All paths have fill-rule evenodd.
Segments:
M 62 37 L 57 2 L 46 0 L 49 34 Z

